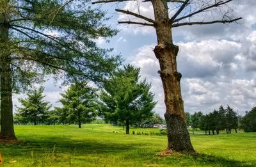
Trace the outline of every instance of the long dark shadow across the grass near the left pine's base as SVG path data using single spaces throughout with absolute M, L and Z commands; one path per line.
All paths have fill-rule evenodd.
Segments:
M 138 148 L 138 144 L 134 143 L 122 143 L 118 144 L 113 141 L 112 143 L 109 141 L 104 141 L 104 139 L 100 141 L 95 141 L 93 139 L 70 139 L 68 137 L 58 137 L 58 136 L 47 136 L 42 137 L 38 136 L 38 138 L 31 139 L 21 139 L 16 143 L 0 143 L 0 149 L 6 148 L 8 150 L 34 150 L 34 151 L 42 151 L 45 150 L 56 149 L 58 153 L 72 153 L 74 150 L 76 152 L 80 152 L 82 154 L 107 154 L 109 152 L 127 152 L 128 150 L 133 150 Z

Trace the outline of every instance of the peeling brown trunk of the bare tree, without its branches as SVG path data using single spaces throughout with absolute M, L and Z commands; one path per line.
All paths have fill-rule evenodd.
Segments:
M 186 115 L 180 91 L 181 74 L 177 72 L 176 62 L 179 47 L 173 45 L 167 1 L 152 0 L 152 4 L 157 34 L 157 46 L 154 52 L 161 68 L 159 74 L 163 83 L 166 105 L 164 117 L 168 133 L 167 149 L 177 152 L 195 152 L 186 127 Z

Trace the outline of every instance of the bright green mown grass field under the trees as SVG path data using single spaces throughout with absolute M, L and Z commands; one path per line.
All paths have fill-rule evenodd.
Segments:
M 166 136 L 126 135 L 111 125 L 17 125 L 19 143 L 0 143 L 1 166 L 256 166 L 256 133 L 191 135 L 200 155 L 161 157 Z M 131 129 L 159 132 L 159 129 Z

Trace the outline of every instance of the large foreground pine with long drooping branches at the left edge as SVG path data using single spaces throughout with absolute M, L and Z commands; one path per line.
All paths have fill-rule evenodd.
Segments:
M 65 83 L 101 81 L 119 65 L 119 57 L 93 42 L 116 34 L 105 20 L 104 12 L 84 1 L 0 1 L 1 139 L 16 139 L 13 92 L 47 74 Z

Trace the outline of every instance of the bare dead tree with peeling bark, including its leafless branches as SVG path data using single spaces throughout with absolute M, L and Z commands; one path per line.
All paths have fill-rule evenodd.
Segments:
M 132 0 L 95 0 L 95 3 L 113 3 Z M 154 19 L 128 10 L 116 9 L 116 12 L 132 15 L 139 19 L 121 20 L 120 24 L 137 24 L 152 26 L 156 29 L 157 45 L 154 49 L 159 60 L 161 70 L 160 77 L 164 89 L 164 102 L 166 113 L 164 114 L 169 152 L 195 152 L 186 127 L 186 115 L 180 89 L 182 74 L 177 71 L 176 57 L 179 47 L 173 44 L 172 29 L 180 26 L 205 25 L 215 23 L 230 23 L 242 18 L 234 18 L 233 10 L 225 7 L 233 0 L 145 0 L 143 3 L 151 3 L 154 10 Z M 169 4 L 168 4 L 169 3 Z M 138 5 L 139 6 L 139 5 Z M 170 11 L 170 10 L 172 11 Z M 172 15 L 170 16 L 170 13 Z M 207 17 L 209 15 L 209 17 Z M 221 18 L 220 20 L 218 20 Z M 142 20 L 142 21 L 140 21 Z

